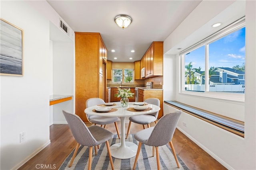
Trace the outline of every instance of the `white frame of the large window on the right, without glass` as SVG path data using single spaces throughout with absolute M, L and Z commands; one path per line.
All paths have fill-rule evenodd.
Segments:
M 242 29 L 243 27 L 246 27 L 245 24 L 245 17 L 235 21 L 234 23 L 228 25 L 227 27 L 224 27 L 220 31 L 217 31 L 216 33 L 210 35 L 209 37 L 206 37 L 202 41 L 199 41 L 198 43 L 192 45 L 191 47 L 188 47 L 184 51 L 181 51 L 179 54 L 179 93 L 189 96 L 200 96 L 204 98 L 215 98 L 218 100 L 230 100 L 230 101 L 237 101 L 237 102 L 244 102 L 244 93 L 243 94 L 236 94 L 236 93 L 226 93 L 226 92 L 211 92 L 209 91 L 209 82 L 208 82 L 208 71 L 205 71 L 205 78 L 207 80 L 205 81 L 205 91 L 204 92 L 196 92 L 196 91 L 186 91 L 184 90 L 184 82 L 185 82 L 185 59 L 184 55 L 187 53 L 190 53 L 191 51 L 198 49 L 202 46 L 205 46 L 205 70 L 208 70 L 209 68 L 209 55 L 208 55 L 208 49 L 209 44 L 217 41 L 218 39 L 221 39 L 230 33 L 233 33 L 239 29 Z

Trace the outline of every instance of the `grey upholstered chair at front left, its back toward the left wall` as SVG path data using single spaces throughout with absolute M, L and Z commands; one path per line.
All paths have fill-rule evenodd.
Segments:
M 76 149 L 74 151 L 74 154 L 72 156 L 72 159 L 68 167 L 72 166 L 74 158 L 76 157 L 78 148 L 80 147 L 80 145 L 83 145 L 83 146 L 90 147 L 89 158 L 88 158 L 88 170 L 90 170 L 92 166 L 92 147 L 94 146 L 95 154 L 97 154 L 96 146 L 106 142 L 110 164 L 111 164 L 112 170 L 114 170 L 114 164 L 112 161 L 112 156 L 111 156 L 110 147 L 108 143 L 108 140 L 113 137 L 113 133 L 99 126 L 87 127 L 78 115 L 72 114 L 64 110 L 62 112 L 66 118 L 66 121 L 68 122 L 68 126 L 75 140 L 77 141 Z

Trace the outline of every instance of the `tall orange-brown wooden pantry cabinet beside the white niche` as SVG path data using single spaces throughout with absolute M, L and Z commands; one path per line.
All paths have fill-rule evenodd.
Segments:
M 107 49 L 100 33 L 75 32 L 75 56 L 75 113 L 89 122 L 86 100 L 106 98 Z

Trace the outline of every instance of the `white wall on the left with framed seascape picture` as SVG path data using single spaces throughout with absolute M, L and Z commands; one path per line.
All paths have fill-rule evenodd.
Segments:
M 50 143 L 49 95 L 54 92 L 52 60 L 55 42 L 50 43 L 50 21 L 58 27 L 59 16 L 46 1 L 1 1 L 0 11 L 1 18 L 20 27 L 24 33 L 24 75 L 0 76 L 0 169 L 8 170 L 17 169 Z M 72 30 L 69 39 L 74 41 Z M 74 44 L 70 51 L 68 62 L 74 64 Z M 74 70 L 74 66 L 68 70 Z M 74 94 L 74 76 L 66 79 L 72 84 L 68 94 Z M 70 104 L 68 108 L 72 111 L 73 107 Z M 20 143 L 23 131 L 26 139 Z

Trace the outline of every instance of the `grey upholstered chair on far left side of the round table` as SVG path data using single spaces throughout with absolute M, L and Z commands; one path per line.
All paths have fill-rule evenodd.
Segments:
M 95 106 L 95 105 L 100 105 L 100 104 L 105 104 L 104 100 L 101 98 L 90 98 L 90 99 L 86 100 L 86 108 Z M 87 118 L 91 123 L 94 123 L 94 125 L 98 124 L 101 127 L 102 127 L 102 125 L 104 125 L 104 128 L 105 128 L 105 125 L 114 123 L 115 127 L 116 127 L 116 133 L 118 135 L 118 138 L 120 139 L 120 135 L 119 135 L 119 131 L 118 131 L 117 123 L 116 123 L 116 121 L 119 120 L 118 117 L 106 117 L 106 116 L 97 116 L 97 115 L 88 115 L 87 114 Z

